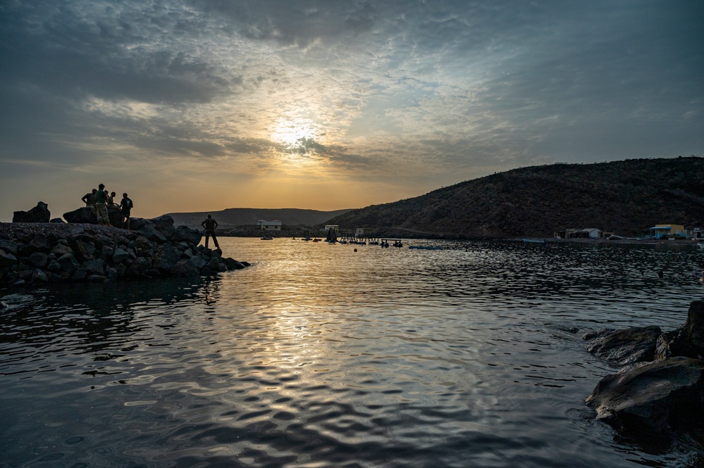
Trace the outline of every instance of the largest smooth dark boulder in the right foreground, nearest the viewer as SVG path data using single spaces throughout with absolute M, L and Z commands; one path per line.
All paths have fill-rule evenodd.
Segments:
M 704 421 L 704 361 L 677 357 L 604 377 L 587 404 L 637 438 L 669 437 Z

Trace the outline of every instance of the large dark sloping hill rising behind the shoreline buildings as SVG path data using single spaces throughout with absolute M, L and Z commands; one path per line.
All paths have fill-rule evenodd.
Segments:
M 669 223 L 704 225 L 704 158 L 523 167 L 328 220 L 399 237 L 548 237 L 571 227 L 635 236 Z

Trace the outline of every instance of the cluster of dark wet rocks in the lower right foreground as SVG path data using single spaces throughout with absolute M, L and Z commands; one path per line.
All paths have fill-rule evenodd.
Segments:
M 587 404 L 623 436 L 669 445 L 704 429 L 704 301 L 693 301 L 683 327 L 605 329 L 585 334 L 588 350 L 621 367 Z

